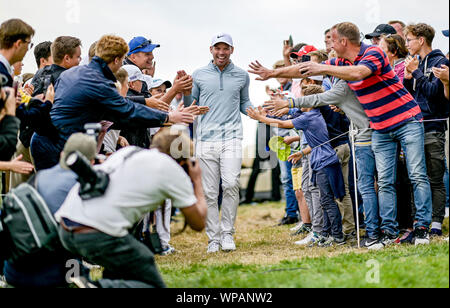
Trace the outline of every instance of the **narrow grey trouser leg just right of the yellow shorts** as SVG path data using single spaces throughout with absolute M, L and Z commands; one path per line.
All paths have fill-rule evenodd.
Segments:
M 320 190 L 319 187 L 314 186 L 311 182 L 311 162 L 310 155 L 302 159 L 303 176 L 302 176 L 302 190 L 306 199 L 306 204 L 309 208 L 309 215 L 311 216 L 311 223 L 313 232 L 322 233 L 323 230 L 323 209 L 320 204 Z

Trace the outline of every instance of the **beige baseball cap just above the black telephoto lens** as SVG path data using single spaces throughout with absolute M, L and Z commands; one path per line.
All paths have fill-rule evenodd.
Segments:
M 64 150 L 59 161 L 59 164 L 63 169 L 70 170 L 70 168 L 66 165 L 66 158 L 75 151 L 80 152 L 89 161 L 91 161 L 97 156 L 97 141 L 93 136 L 83 133 L 77 133 L 70 136 L 64 146 Z

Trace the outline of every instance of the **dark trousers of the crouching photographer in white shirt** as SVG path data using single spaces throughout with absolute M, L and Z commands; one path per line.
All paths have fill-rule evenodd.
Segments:
M 99 281 L 104 288 L 166 287 L 153 253 L 131 235 L 73 234 L 60 227 L 59 238 L 69 252 L 105 268 Z

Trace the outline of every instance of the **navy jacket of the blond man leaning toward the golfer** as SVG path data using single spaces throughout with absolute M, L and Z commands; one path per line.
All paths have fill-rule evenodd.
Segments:
M 161 127 L 166 122 L 167 113 L 120 96 L 115 82 L 114 74 L 99 57 L 61 74 L 50 116 L 63 139 L 83 132 L 87 123 L 102 120 L 114 122 L 117 129 Z

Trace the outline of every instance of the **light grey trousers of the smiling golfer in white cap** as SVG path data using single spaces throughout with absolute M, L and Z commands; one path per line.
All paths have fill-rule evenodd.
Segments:
M 239 207 L 239 186 L 242 168 L 242 141 L 197 142 L 203 189 L 208 204 L 206 234 L 209 242 L 220 242 L 226 234 L 235 233 Z M 219 186 L 222 180 L 222 217 L 219 213 Z

